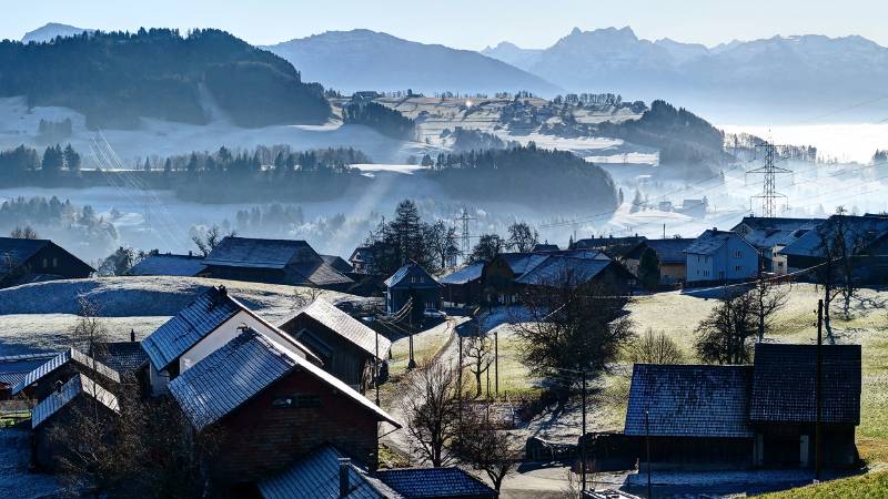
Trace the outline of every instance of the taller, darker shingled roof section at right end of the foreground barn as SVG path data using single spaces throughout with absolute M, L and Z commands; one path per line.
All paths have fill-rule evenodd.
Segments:
M 823 347 L 823 421 L 860 424 L 860 345 Z M 817 345 L 756 345 L 750 419 L 814 422 Z

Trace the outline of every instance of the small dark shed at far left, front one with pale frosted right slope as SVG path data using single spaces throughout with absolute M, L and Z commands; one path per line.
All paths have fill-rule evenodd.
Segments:
M 72 451 L 60 437 L 75 431 L 70 426 L 83 414 L 113 418 L 120 414 L 120 405 L 114 394 L 82 374 L 73 376 L 64 384 L 60 381 L 34 406 L 31 411 L 31 429 L 33 460 L 39 468 L 47 471 L 59 468 L 60 460 Z

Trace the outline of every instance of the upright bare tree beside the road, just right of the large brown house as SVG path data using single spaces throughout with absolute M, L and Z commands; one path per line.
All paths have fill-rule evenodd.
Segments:
M 447 444 L 456 435 L 460 413 L 454 369 L 443 363 L 423 361 L 407 377 L 402 410 L 407 435 L 432 466 L 450 460 Z

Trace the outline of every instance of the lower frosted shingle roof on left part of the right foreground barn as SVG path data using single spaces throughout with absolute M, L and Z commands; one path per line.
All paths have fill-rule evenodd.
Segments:
M 753 366 L 636 364 L 626 435 L 753 437 L 748 425 Z

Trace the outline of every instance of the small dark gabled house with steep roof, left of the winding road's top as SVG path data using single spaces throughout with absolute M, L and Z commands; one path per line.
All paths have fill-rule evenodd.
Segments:
M 385 310 L 395 314 L 410 302 L 412 319 L 418 324 L 425 310 L 441 309 L 442 288 L 432 274 L 411 262 L 385 279 Z

